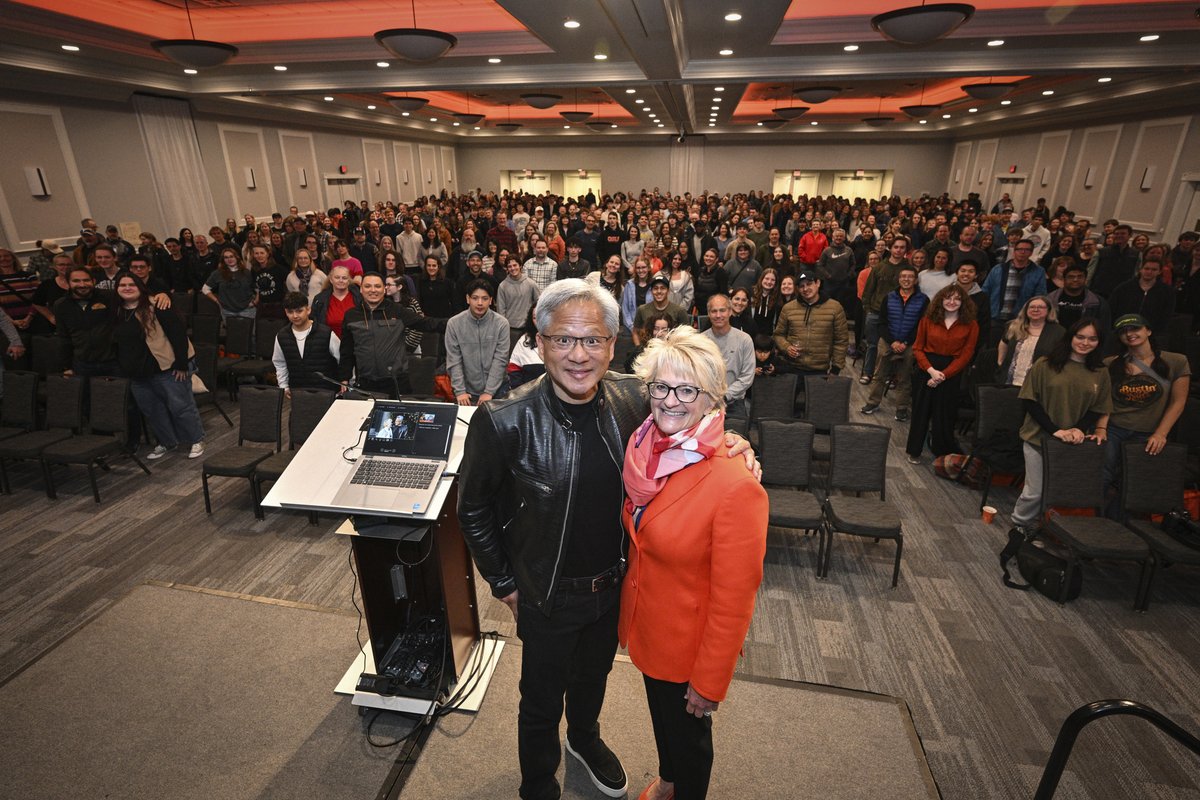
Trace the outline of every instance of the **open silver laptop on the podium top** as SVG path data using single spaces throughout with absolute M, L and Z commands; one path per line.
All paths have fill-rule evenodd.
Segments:
M 450 457 L 454 403 L 376 401 L 362 455 L 332 505 L 386 515 L 425 513 Z

